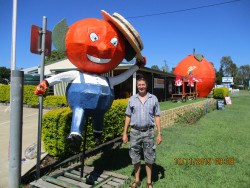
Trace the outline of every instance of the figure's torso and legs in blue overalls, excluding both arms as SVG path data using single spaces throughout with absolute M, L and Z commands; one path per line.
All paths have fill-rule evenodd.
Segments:
M 104 114 L 114 99 L 108 78 L 80 73 L 67 87 L 67 101 L 72 109 L 71 133 L 81 135 L 86 116 L 93 119 L 94 133 L 103 130 Z

